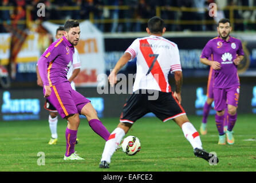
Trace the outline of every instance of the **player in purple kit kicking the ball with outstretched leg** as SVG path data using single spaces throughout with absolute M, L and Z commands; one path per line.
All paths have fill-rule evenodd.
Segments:
M 68 120 L 66 128 L 66 153 L 64 160 L 84 160 L 74 151 L 79 114 L 83 114 L 94 132 L 105 141 L 109 132 L 101 123 L 90 101 L 73 90 L 66 74 L 73 62 L 74 46 L 80 38 L 79 22 L 69 19 L 64 25 L 64 36 L 53 42 L 38 61 L 38 71 L 44 84 L 44 97 Z

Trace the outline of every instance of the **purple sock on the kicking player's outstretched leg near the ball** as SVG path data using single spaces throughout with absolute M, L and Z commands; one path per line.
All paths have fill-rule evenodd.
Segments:
M 102 124 L 100 120 L 93 119 L 89 121 L 90 128 L 97 133 L 99 136 L 104 138 L 105 141 L 108 140 L 108 137 L 110 136 L 110 133 L 105 128 L 105 126 Z

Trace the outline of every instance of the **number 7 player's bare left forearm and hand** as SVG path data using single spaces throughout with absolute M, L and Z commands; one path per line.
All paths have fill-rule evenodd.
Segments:
M 116 66 L 114 69 L 111 71 L 111 73 L 108 76 L 108 81 L 111 84 L 111 86 L 114 86 L 115 83 L 117 82 L 116 75 L 122 69 L 122 67 L 127 64 L 127 62 L 131 59 L 131 54 L 125 52 L 123 56 L 117 61 Z

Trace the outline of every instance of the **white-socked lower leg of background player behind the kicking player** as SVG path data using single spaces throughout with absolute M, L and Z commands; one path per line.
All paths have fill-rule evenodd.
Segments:
M 58 113 L 50 112 L 48 121 L 49 121 L 50 132 L 52 133 L 52 136 L 48 144 L 53 145 L 53 144 L 56 144 L 58 140 L 58 134 L 57 134 Z

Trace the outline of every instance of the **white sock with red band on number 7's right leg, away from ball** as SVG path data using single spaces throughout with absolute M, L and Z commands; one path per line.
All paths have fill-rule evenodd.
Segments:
M 185 122 L 182 125 L 182 131 L 184 133 L 184 136 L 192 145 L 193 149 L 195 148 L 203 149 L 199 133 L 196 131 L 194 126 L 191 124 L 191 122 Z

